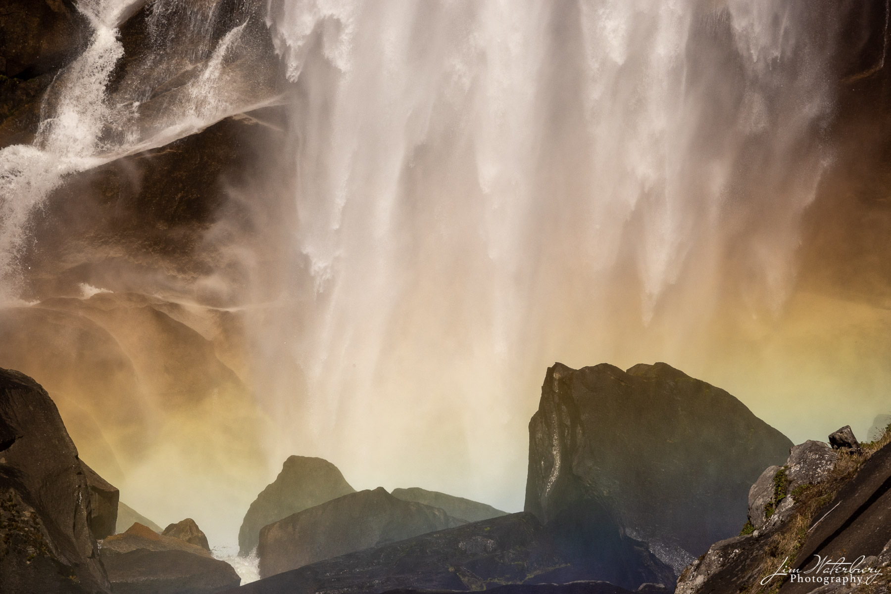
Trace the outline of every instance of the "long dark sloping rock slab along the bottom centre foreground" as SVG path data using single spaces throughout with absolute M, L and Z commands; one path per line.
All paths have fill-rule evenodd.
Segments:
M 630 544 L 627 543 L 626 544 Z M 673 583 L 671 569 L 637 542 L 641 557 L 602 566 L 600 580 L 635 589 L 646 582 Z M 323 594 L 397 588 L 483 590 L 496 584 L 597 579 L 561 554 L 561 544 L 532 514 L 519 513 L 462 525 L 405 541 L 319 561 L 241 586 L 238 594 Z M 234 592 L 233 592 L 234 594 Z

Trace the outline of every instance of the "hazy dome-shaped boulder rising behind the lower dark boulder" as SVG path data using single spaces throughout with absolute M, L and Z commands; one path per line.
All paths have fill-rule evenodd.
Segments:
M 263 526 L 352 492 L 356 489 L 328 460 L 291 456 L 274 482 L 250 504 L 238 533 L 241 554 L 257 546 Z

